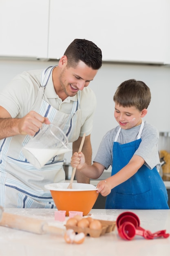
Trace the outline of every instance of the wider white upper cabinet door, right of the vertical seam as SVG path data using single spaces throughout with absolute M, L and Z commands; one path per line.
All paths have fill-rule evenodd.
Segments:
M 51 0 L 49 58 L 85 38 L 104 61 L 170 63 L 169 0 Z

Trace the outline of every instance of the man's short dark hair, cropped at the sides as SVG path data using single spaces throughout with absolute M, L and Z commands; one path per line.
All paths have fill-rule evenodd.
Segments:
M 79 61 L 83 61 L 93 70 L 99 70 L 102 66 L 102 51 L 93 42 L 86 39 L 75 39 L 66 49 L 67 67 L 76 67 Z

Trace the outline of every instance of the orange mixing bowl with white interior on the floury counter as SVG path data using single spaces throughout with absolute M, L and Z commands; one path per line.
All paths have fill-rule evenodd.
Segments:
M 82 211 L 87 215 L 95 204 L 98 193 L 92 184 L 73 183 L 72 189 L 67 189 L 69 183 L 52 183 L 45 185 L 49 189 L 59 211 Z

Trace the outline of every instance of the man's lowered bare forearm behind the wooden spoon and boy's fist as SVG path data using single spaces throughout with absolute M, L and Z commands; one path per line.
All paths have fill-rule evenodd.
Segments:
M 82 137 L 79 137 L 77 141 L 73 142 L 73 153 L 78 152 L 81 141 L 82 141 Z M 85 156 L 86 163 L 91 164 L 91 161 L 92 161 L 91 135 L 88 135 L 85 137 L 82 152 Z M 87 183 L 87 184 L 90 183 L 90 179 L 86 177 L 83 173 L 80 173 L 79 171 L 76 171 L 75 177 L 78 183 Z

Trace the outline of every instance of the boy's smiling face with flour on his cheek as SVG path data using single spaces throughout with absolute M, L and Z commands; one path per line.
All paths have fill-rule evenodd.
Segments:
M 139 111 L 135 107 L 122 107 L 119 104 L 115 103 L 115 119 L 118 122 L 119 126 L 122 129 L 130 129 L 134 126 L 138 126 L 142 122 L 142 117 L 147 113 L 147 110 L 144 109 Z

